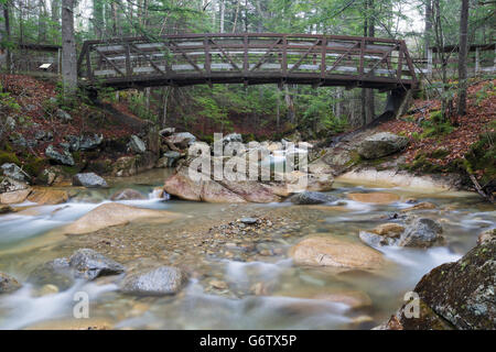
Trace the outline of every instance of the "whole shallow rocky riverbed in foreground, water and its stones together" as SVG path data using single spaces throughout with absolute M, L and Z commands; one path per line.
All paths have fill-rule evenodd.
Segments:
M 166 176 L 157 173 L 61 189 L 72 200 L 1 216 L 0 326 L 370 329 L 495 224 L 494 208 L 471 194 L 335 183 L 277 204 L 205 204 L 163 198 L 154 189 Z M 108 205 L 122 221 L 74 231 L 85 217 L 108 218 Z M 388 240 L 412 237 L 425 242 Z M 78 292 L 90 298 L 86 323 L 72 317 Z

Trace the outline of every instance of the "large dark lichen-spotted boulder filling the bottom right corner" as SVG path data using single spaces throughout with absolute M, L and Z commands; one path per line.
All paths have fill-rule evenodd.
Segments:
M 496 329 L 496 237 L 487 238 L 461 260 L 424 275 L 413 289 L 418 318 L 407 318 L 403 305 L 379 327 L 391 330 Z

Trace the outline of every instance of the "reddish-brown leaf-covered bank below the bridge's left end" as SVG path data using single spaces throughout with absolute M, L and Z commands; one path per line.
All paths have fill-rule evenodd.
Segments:
M 136 128 L 121 123 L 116 117 L 95 107 L 79 103 L 68 111 L 69 123 L 63 123 L 53 112 L 48 111 L 50 100 L 57 96 L 53 82 L 24 75 L 0 75 L 3 92 L 9 92 L 21 107 L 13 116 L 22 117 L 30 123 L 19 123 L 14 132 L 21 133 L 26 140 L 33 140 L 39 131 L 52 132 L 53 141 L 40 142 L 33 152 L 42 156 L 48 144 L 57 145 L 64 142 L 66 135 L 103 134 L 105 139 L 118 139 L 136 133 Z

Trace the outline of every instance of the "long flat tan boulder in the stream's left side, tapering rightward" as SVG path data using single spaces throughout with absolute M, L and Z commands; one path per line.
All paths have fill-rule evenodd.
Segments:
M 126 224 L 138 219 L 157 218 L 171 222 L 180 216 L 164 210 L 140 209 L 116 202 L 104 204 L 63 229 L 65 233 L 88 233 L 108 227 Z

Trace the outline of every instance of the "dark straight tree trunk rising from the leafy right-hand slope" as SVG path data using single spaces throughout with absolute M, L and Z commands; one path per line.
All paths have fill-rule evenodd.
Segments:
M 466 56 L 468 29 L 468 0 L 462 0 L 460 13 L 460 52 L 459 52 L 459 116 L 466 113 Z

